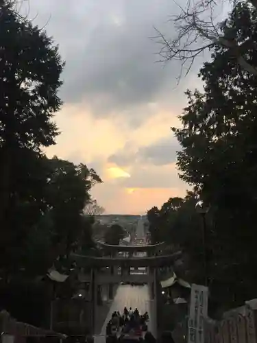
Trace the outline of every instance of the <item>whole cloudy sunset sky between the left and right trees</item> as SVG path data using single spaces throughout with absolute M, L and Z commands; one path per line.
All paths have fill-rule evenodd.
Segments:
M 145 214 L 190 189 L 178 177 L 171 126 L 186 106 L 184 91 L 201 84 L 196 62 L 178 84 L 179 62 L 158 62 L 157 27 L 172 37 L 171 0 L 29 0 L 23 12 L 58 43 L 66 61 L 62 132 L 46 150 L 93 167 L 92 190 L 106 213 Z

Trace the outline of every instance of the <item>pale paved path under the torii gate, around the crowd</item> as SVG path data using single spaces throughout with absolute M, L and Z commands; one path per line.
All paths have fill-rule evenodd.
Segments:
M 152 313 L 151 313 L 151 300 L 149 298 L 149 289 L 148 286 L 130 286 L 130 285 L 120 285 L 117 289 L 117 294 L 112 302 L 112 306 L 110 307 L 110 311 L 108 316 L 106 317 L 105 322 L 103 323 L 103 327 L 101 329 L 101 333 L 99 336 L 95 336 L 95 343 L 105 343 L 106 334 L 106 325 L 110 318 L 112 317 L 112 313 L 114 311 L 120 311 L 123 313 L 124 307 L 129 309 L 138 308 L 140 314 L 145 313 L 147 311 L 149 313 L 149 323 L 148 329 L 152 333 L 154 333 L 154 327 L 151 322 Z

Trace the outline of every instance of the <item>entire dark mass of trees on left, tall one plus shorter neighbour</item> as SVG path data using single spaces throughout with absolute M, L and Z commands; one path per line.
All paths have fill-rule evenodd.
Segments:
M 42 151 L 59 134 L 58 45 L 12 1 L 1 2 L 0 28 L 0 269 L 8 280 L 44 274 L 58 255 L 92 246 L 94 219 L 83 211 L 101 178 Z

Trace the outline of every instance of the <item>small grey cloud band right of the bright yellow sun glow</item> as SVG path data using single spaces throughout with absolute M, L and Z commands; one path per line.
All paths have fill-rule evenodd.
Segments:
M 151 145 L 139 147 L 134 153 L 127 149 L 127 145 L 116 154 L 112 154 L 108 161 L 123 167 L 132 163 L 146 163 L 148 165 L 169 165 L 176 161 L 176 152 L 180 144 L 171 134 Z

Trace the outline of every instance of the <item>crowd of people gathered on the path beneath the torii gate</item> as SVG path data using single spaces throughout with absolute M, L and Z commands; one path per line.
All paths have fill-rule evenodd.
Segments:
M 112 318 L 106 326 L 106 342 L 112 343 L 114 340 L 121 341 L 125 336 L 129 335 L 142 338 L 142 333 L 147 332 L 148 320 L 149 315 L 147 312 L 140 315 L 138 309 L 134 309 L 134 311 L 132 311 L 131 307 L 130 309 L 125 307 L 123 314 L 119 311 L 114 311 Z

